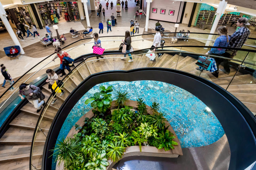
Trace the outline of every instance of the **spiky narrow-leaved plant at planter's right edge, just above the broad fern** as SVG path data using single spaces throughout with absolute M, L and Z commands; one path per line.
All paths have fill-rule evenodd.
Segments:
M 150 123 L 156 126 L 158 129 L 162 129 L 165 127 L 165 121 L 167 121 L 165 116 L 165 112 L 154 112 L 154 114 L 149 117 Z

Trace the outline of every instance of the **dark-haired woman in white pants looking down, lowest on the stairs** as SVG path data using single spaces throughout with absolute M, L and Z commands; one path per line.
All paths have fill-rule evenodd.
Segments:
M 45 98 L 45 95 L 42 93 L 41 89 L 35 85 L 22 83 L 19 86 L 18 94 L 22 100 L 25 99 L 23 95 L 26 96 L 27 100 L 37 109 L 37 113 L 40 112 L 40 110 L 42 109 L 42 105 L 45 105 L 45 101 L 43 100 Z M 38 99 L 40 99 L 40 103 Z

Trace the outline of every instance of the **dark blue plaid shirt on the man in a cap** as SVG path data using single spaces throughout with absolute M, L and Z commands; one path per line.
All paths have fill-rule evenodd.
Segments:
M 229 47 L 241 48 L 247 38 L 249 37 L 250 30 L 247 27 L 241 27 L 230 36 Z

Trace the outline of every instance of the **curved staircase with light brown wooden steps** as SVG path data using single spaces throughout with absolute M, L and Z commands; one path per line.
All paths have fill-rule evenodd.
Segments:
M 121 54 L 106 55 L 106 57 L 122 56 Z M 86 61 L 93 59 L 96 59 L 96 57 L 89 58 Z M 129 70 L 142 67 L 164 67 L 190 72 L 198 76 L 200 74 L 200 71 L 195 69 L 197 67 L 195 65 L 197 60 L 190 56 L 183 57 L 165 53 L 159 58 L 157 57 L 155 62 L 152 62 L 143 54 L 136 55 L 132 63 L 127 62 L 128 60 L 129 57 L 127 57 L 126 60 L 122 60 L 121 58 L 109 58 L 104 61 L 100 60 L 99 62 L 84 62 L 83 66 L 80 64 L 81 67 L 78 66 L 75 69 L 77 70 L 76 72 L 73 71 L 74 74 L 69 76 L 70 78 L 67 79 L 63 86 L 63 90 L 65 90 L 66 93 L 61 97 L 59 96 L 60 93 L 57 94 L 57 102 L 49 104 L 43 121 L 40 124 L 40 129 L 43 133 L 37 133 L 33 150 L 32 164 L 36 169 L 41 169 L 42 150 L 55 114 L 74 88 L 89 75 L 102 71 Z M 75 66 L 77 66 L 77 64 L 78 63 L 74 63 Z M 222 68 L 222 66 L 220 66 L 220 68 Z M 73 67 L 71 67 L 71 69 L 73 69 Z M 68 73 L 67 70 L 65 70 L 65 72 Z M 235 72 L 235 69 L 231 69 L 229 75 L 219 72 L 219 77 L 215 78 L 210 72 L 203 71 L 201 76 L 226 88 Z M 59 79 L 61 78 L 62 77 L 59 77 Z M 251 90 L 253 89 L 252 87 L 255 87 L 253 77 L 249 74 L 242 75 L 238 72 L 228 88 L 228 91 L 240 99 L 255 114 L 256 93 L 255 90 Z M 48 84 L 42 86 L 42 91 L 46 96 L 46 101 L 51 94 L 51 90 L 48 89 Z M 31 141 L 39 115 L 40 114 L 36 113 L 36 109 L 29 102 L 20 109 L 19 115 L 10 123 L 10 128 L 0 139 L 0 169 L 29 170 Z

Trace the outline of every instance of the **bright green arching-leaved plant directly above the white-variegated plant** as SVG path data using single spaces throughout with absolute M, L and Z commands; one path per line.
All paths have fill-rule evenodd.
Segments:
M 85 136 L 82 141 L 82 152 L 85 155 L 88 155 L 90 158 L 93 157 L 93 154 L 98 151 L 99 148 L 99 138 L 95 133 L 92 133 L 90 136 Z

